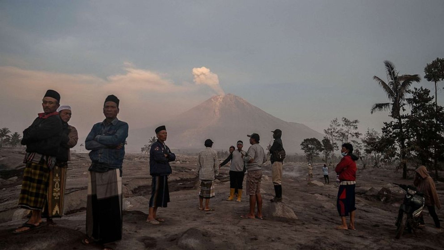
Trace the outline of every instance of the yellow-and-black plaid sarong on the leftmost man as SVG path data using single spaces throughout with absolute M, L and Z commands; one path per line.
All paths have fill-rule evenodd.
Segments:
M 48 195 L 49 168 L 45 161 L 28 162 L 23 172 L 19 206 L 30 210 L 42 210 Z

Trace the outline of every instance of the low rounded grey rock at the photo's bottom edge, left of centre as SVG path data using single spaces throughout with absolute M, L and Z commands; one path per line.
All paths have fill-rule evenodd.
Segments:
M 192 227 L 178 238 L 177 245 L 180 249 L 206 250 L 212 245 L 210 237 L 209 232 Z

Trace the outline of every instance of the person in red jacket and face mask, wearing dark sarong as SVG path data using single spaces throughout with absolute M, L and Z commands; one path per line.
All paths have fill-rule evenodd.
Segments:
M 355 230 L 355 186 L 356 186 L 356 160 L 359 159 L 353 155 L 353 145 L 350 143 L 342 144 L 341 161 L 337 163 L 335 171 L 339 175 L 339 190 L 337 192 L 337 211 L 341 216 L 340 230 Z M 347 226 L 346 217 L 350 215 L 350 224 Z

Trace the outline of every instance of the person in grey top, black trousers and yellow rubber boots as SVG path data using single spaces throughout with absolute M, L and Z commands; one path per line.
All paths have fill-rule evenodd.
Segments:
M 231 160 L 230 196 L 226 199 L 227 201 L 233 200 L 236 194 L 237 194 L 236 202 L 241 202 L 242 199 L 242 188 L 243 188 L 242 183 L 244 181 L 244 175 L 245 175 L 244 174 L 245 162 L 243 157 L 246 155 L 246 152 L 242 150 L 243 145 L 244 144 L 242 141 L 238 141 L 236 143 L 238 149 L 232 151 L 230 156 L 228 156 L 228 158 L 219 165 L 219 167 L 222 167 L 228 162 L 227 160 Z M 232 149 L 232 147 L 230 147 L 230 150 Z

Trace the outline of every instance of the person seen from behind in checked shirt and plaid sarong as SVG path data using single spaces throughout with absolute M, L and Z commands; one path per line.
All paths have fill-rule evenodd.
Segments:
M 214 210 L 214 208 L 210 208 L 210 198 L 215 196 L 214 179 L 219 175 L 218 153 L 211 147 L 213 147 L 213 141 L 206 139 L 205 148 L 199 152 L 197 158 L 197 172 L 200 181 L 199 210 L 204 211 Z M 205 207 L 203 205 L 204 199 Z

